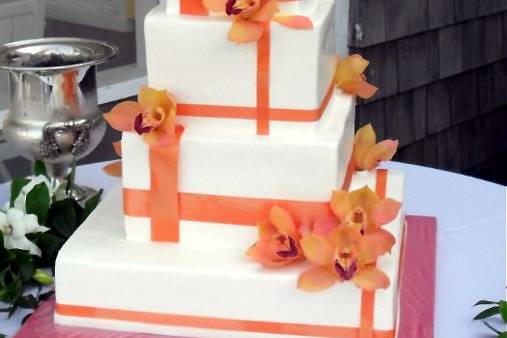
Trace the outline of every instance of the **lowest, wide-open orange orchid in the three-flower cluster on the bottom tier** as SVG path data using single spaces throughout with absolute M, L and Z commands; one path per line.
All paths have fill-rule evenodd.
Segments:
M 317 292 L 335 283 L 351 281 L 357 287 L 373 291 L 389 287 L 389 277 L 374 266 L 377 258 L 389 253 L 395 243 L 387 231 L 361 235 L 341 225 L 328 236 L 311 235 L 301 240 L 306 259 L 313 266 L 298 278 L 298 288 Z

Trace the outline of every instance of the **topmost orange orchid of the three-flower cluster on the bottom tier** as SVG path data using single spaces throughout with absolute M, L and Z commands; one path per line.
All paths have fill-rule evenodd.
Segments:
M 356 229 L 360 234 L 380 229 L 394 220 L 401 209 L 400 202 L 380 199 L 368 186 L 350 193 L 336 190 L 329 204 L 340 225 Z

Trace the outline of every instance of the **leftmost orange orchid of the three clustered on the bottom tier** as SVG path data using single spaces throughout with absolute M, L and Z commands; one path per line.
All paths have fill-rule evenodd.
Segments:
M 259 240 L 247 251 L 247 256 L 266 268 L 278 268 L 303 258 L 300 235 L 290 214 L 273 206 L 268 222 L 257 224 Z

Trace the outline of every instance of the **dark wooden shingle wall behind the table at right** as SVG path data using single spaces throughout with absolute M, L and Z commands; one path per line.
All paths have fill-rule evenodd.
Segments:
M 379 87 L 357 126 L 399 139 L 399 161 L 479 176 L 505 161 L 507 0 L 350 1 L 351 52 Z

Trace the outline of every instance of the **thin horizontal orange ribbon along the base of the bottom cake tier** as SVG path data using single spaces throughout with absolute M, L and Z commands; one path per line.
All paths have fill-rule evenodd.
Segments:
M 56 304 L 56 313 L 61 316 L 121 320 L 144 324 L 192 327 L 209 330 L 243 331 L 306 337 L 358 337 L 358 329 L 352 327 L 212 318 L 168 313 L 105 309 L 67 304 Z M 394 338 L 394 333 L 394 330 L 376 330 L 374 331 L 373 337 Z

